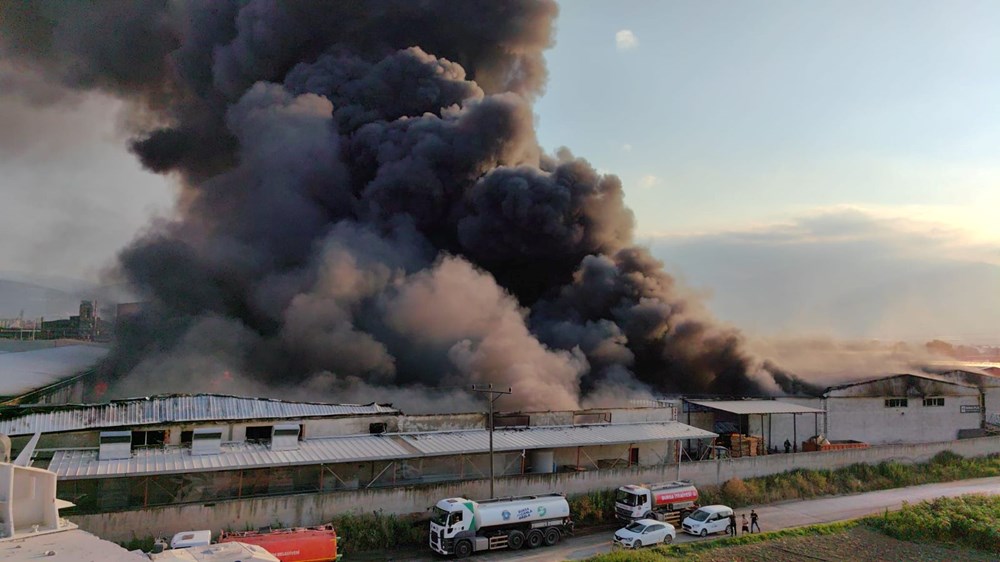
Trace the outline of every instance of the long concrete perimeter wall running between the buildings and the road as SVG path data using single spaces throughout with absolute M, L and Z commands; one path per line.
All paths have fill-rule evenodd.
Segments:
M 667 464 L 656 467 L 613 469 L 579 473 L 532 474 L 496 481 L 499 496 L 563 492 L 568 495 L 617 488 L 625 484 L 683 478 L 697 486 L 721 484 L 734 477 L 750 478 L 788 470 L 831 469 L 855 463 L 895 460 L 926 462 L 942 451 L 966 457 L 1000 453 L 1000 437 L 963 441 L 888 445 L 860 450 L 769 455 L 723 461 Z M 264 525 L 314 525 L 341 513 L 382 510 L 386 513 L 426 515 L 442 498 L 489 495 L 489 480 L 445 482 L 420 486 L 381 488 L 325 494 L 302 494 L 272 498 L 223 501 L 213 504 L 178 505 L 117 513 L 70 517 L 83 529 L 98 536 L 124 541 L 148 536 L 171 536 L 195 529 L 249 529 Z

